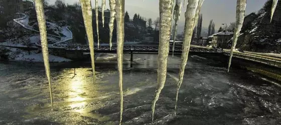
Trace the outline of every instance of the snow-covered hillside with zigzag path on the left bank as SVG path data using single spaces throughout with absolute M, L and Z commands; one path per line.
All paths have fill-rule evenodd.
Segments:
M 2 37 L 4 41 L 0 42 L 1 47 L 5 47 L 8 50 L 5 54 L 8 54 L 8 59 L 11 60 L 24 60 L 24 61 L 43 61 L 41 46 L 40 46 L 40 34 L 38 30 L 37 20 L 31 19 L 30 12 L 18 13 L 19 18 L 13 19 L 9 22 L 9 27 L 2 29 Z M 33 21 L 33 22 L 30 22 Z M 33 23 L 32 25 L 30 25 Z M 68 43 L 72 40 L 72 32 L 68 29 L 67 25 L 59 25 L 55 22 L 46 22 L 47 25 L 47 37 L 49 46 L 53 44 Z M 33 50 L 23 50 L 13 47 L 26 47 Z M 37 50 L 35 50 L 37 49 Z M 59 57 L 55 55 L 49 56 L 49 61 L 61 62 L 70 61 L 70 59 Z

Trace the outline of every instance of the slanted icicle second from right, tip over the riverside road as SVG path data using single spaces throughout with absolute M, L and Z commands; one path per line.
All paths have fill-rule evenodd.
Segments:
M 243 25 L 243 21 L 244 21 L 244 17 L 245 17 L 246 1 L 247 0 L 237 0 L 236 24 L 235 24 L 235 28 L 234 28 L 234 36 L 233 36 L 233 41 L 232 41 L 232 45 L 231 45 L 231 51 L 230 51 L 230 56 L 229 56 L 229 61 L 228 61 L 227 72 L 229 72 L 229 68 L 230 68 L 230 65 L 231 65 L 231 58 L 232 58 L 232 55 L 233 55 L 233 50 L 235 49 L 236 42 L 238 40 L 238 35 L 239 35 L 241 27 Z

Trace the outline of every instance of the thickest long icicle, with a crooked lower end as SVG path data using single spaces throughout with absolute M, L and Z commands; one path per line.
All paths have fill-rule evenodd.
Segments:
M 159 0 L 160 11 L 160 31 L 159 31 L 159 50 L 158 50 L 158 73 L 157 86 L 152 101 L 152 122 L 154 120 L 154 110 L 156 101 L 159 98 L 160 92 L 163 89 L 166 81 L 167 73 L 167 58 L 169 54 L 169 40 L 172 23 L 172 10 L 174 0 Z

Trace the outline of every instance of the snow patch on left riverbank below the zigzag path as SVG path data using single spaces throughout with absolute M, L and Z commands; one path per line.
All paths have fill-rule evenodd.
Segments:
M 17 49 L 17 48 L 11 48 L 7 47 L 11 51 L 9 52 L 10 60 L 22 60 L 22 61 L 34 61 L 34 62 L 43 62 L 43 55 L 42 53 L 37 53 L 36 51 L 30 51 L 30 54 L 28 51 Z M 49 61 L 50 62 L 64 62 L 64 61 L 71 61 L 70 59 L 55 56 L 52 54 L 49 54 Z

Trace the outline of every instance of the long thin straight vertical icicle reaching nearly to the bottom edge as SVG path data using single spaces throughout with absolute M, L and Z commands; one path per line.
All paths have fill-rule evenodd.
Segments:
M 123 113 L 123 46 L 124 46 L 124 14 L 125 0 L 116 0 L 116 23 L 117 23 L 117 62 L 119 71 L 119 91 L 120 91 L 120 121 Z

